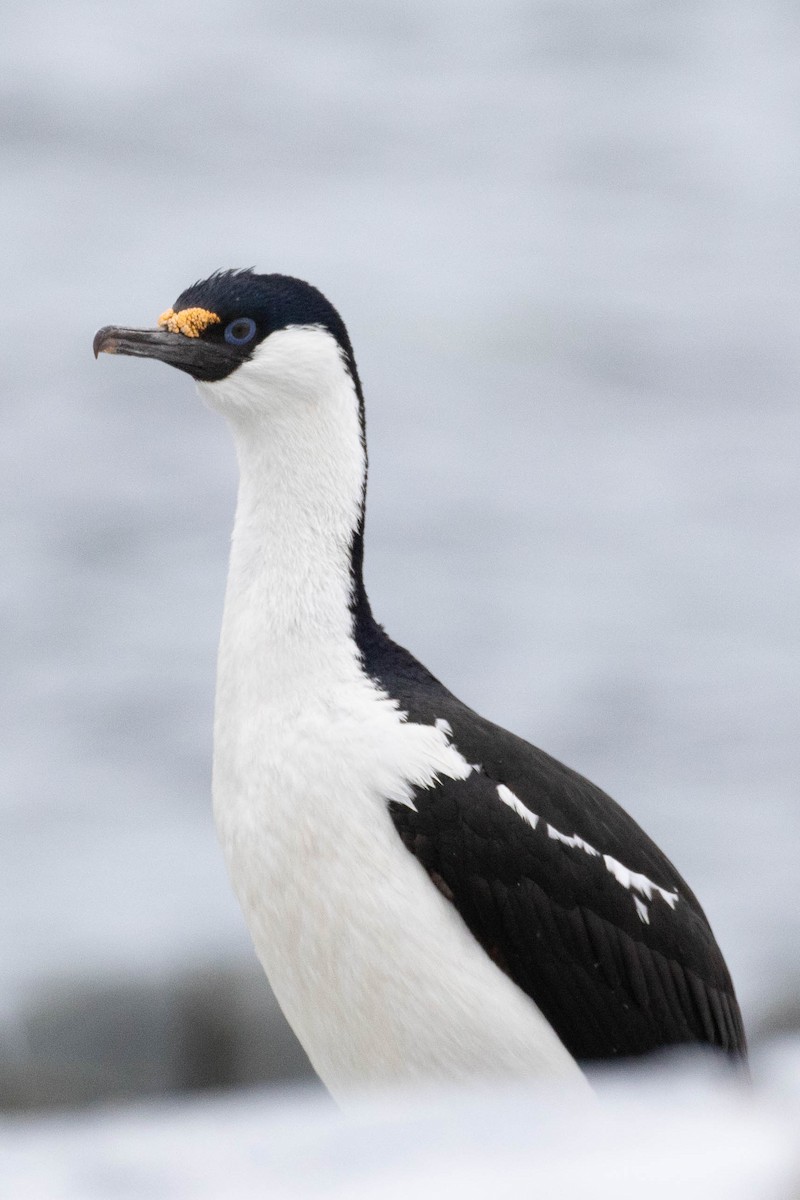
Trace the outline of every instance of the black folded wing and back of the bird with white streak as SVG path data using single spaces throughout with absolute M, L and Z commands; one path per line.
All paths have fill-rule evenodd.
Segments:
M 446 720 L 476 764 L 465 780 L 417 788 L 416 811 L 390 804 L 395 827 L 570 1052 L 585 1061 L 708 1043 L 744 1056 L 720 948 L 657 846 L 600 788 L 477 716 L 389 646 L 381 685 L 409 719 Z

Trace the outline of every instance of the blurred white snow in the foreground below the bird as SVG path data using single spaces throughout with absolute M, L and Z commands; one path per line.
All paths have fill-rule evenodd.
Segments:
M 395 1200 L 790 1200 L 800 1183 L 800 1044 L 753 1091 L 703 1063 L 599 1080 L 597 1100 L 525 1087 L 365 1098 L 192 1098 L 0 1127 L 19 1200 L 347 1196 Z M 778 1068 L 780 1062 L 780 1068 Z

